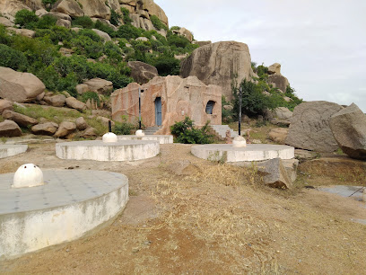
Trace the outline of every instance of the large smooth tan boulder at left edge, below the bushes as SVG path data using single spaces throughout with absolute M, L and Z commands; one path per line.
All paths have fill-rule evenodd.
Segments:
M 0 67 L 0 97 L 13 102 L 31 102 L 46 86 L 36 75 Z

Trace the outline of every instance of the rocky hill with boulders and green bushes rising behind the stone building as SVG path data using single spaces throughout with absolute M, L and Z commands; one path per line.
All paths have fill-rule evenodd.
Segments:
M 153 0 L 0 0 L 0 69 L 6 72 L 0 75 L 0 99 L 10 102 L 67 107 L 86 119 L 88 110 L 101 109 L 110 118 L 109 95 L 115 89 L 158 75 L 195 75 L 222 87 L 230 122 L 238 112 L 240 85 L 252 90 L 249 102 L 260 102 L 243 107 L 251 115 L 301 102 L 281 66 L 272 67 L 257 67 L 244 43 L 200 42 L 185 28 L 169 28 Z M 29 124 L 20 126 L 34 132 Z

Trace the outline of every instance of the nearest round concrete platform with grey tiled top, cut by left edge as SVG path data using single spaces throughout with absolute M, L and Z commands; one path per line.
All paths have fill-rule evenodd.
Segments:
M 125 208 L 128 179 L 102 171 L 44 171 L 46 184 L 10 188 L 13 173 L 0 174 L 0 258 L 69 242 Z

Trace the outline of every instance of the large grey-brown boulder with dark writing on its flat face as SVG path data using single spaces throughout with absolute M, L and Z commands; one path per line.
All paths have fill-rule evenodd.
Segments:
M 338 145 L 329 120 L 343 107 L 333 102 L 303 102 L 293 110 L 286 144 L 296 148 L 334 152 Z

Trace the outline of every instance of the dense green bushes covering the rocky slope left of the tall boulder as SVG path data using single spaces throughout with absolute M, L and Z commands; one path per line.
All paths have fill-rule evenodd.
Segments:
M 191 53 L 198 46 L 169 31 L 157 17 L 152 16 L 152 21 L 159 29 L 167 31 L 167 38 L 157 31 L 135 28 L 128 10 L 122 8 L 121 12 L 122 15 L 112 13 L 113 24 L 118 25 L 121 17 L 125 22 L 117 31 L 103 22 L 92 22 L 87 16 L 73 19 L 73 27 L 82 28 L 73 31 L 57 26 L 57 18 L 52 15 L 39 18 L 28 10 L 19 11 L 15 15 L 16 22 L 22 28 L 35 31 L 36 37 L 11 34 L 0 25 L 0 66 L 30 72 L 37 75 L 49 91 L 67 91 L 72 95 L 76 95 L 76 84 L 94 77 L 111 81 L 115 89 L 125 87 L 133 82 L 126 66 L 129 60 L 157 67 L 160 75 L 179 75 L 180 61 L 174 56 Z M 108 33 L 114 41 L 105 42 L 91 29 Z M 138 37 L 147 40 L 135 40 Z M 59 52 L 61 48 L 72 49 L 74 53 L 65 57 Z

